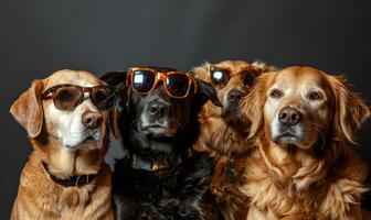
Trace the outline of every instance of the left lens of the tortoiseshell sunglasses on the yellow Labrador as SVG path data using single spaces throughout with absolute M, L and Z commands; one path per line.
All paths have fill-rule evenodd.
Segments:
M 73 110 L 80 102 L 82 92 L 75 87 L 61 87 L 54 98 L 55 108 L 64 111 Z

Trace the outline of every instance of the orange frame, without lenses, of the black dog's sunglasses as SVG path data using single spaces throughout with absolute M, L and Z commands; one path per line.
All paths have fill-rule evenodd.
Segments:
M 132 85 L 134 85 L 134 82 L 132 82 L 132 80 L 134 80 L 134 74 L 135 74 L 135 72 L 138 72 L 138 70 L 150 72 L 150 73 L 152 73 L 153 76 L 155 76 L 153 85 L 152 85 L 152 87 L 151 87 L 148 91 L 138 91 L 138 90 L 137 90 L 136 88 L 134 88 L 134 86 L 132 86 Z M 167 84 L 167 80 L 166 80 L 166 79 L 168 78 L 168 76 L 177 75 L 177 74 L 186 75 L 186 76 L 189 78 L 188 88 L 187 88 L 187 92 L 186 92 L 184 96 L 173 96 L 173 95 L 168 90 L 168 84 Z M 170 96 L 170 97 L 172 97 L 172 98 L 182 99 L 182 98 L 188 97 L 188 95 L 189 95 L 189 92 L 190 92 L 190 90 L 191 90 L 192 82 L 193 82 L 193 85 L 194 85 L 194 94 L 195 94 L 197 90 L 198 90 L 195 78 L 194 78 L 194 76 L 193 76 L 191 73 L 189 73 L 189 72 L 179 72 L 179 70 L 178 70 L 178 72 L 163 72 L 163 73 L 161 73 L 161 72 L 157 72 L 157 70 L 153 69 L 153 68 L 148 68 L 148 67 L 130 67 L 130 68 L 128 68 L 128 70 L 127 70 L 127 78 L 126 78 L 126 86 L 127 86 L 127 87 L 130 86 L 131 89 L 132 89 L 135 92 L 137 92 L 137 94 L 139 94 L 139 95 L 141 95 L 141 96 L 147 96 L 147 95 L 149 95 L 150 92 L 152 92 L 153 89 L 156 89 L 156 87 L 157 87 L 157 85 L 158 85 L 158 82 L 159 82 L 160 80 L 162 80 L 162 85 L 163 85 L 163 88 L 165 88 L 165 91 L 167 92 L 167 95 Z

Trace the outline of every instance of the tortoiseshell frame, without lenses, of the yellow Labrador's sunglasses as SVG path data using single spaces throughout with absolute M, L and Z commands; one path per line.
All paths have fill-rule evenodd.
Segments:
M 116 106 L 116 101 L 117 101 L 117 94 L 118 94 L 118 90 L 113 87 L 113 86 L 94 86 L 94 87 L 81 87 L 81 86 L 77 86 L 77 85 L 73 85 L 73 84 L 60 84 L 60 85 L 56 85 L 56 86 L 53 86 L 49 89 L 46 89 L 42 95 L 41 95 L 41 99 L 42 100 L 45 100 L 45 99 L 53 99 L 53 103 L 56 107 L 55 105 L 55 96 L 56 96 L 56 91 L 60 89 L 60 88 L 63 88 L 63 87 L 73 87 L 73 88 L 76 88 L 77 90 L 80 90 L 81 95 L 80 95 L 80 99 L 78 101 L 73 105 L 73 109 L 74 110 L 75 108 L 77 108 L 83 101 L 84 101 L 84 94 L 87 92 L 89 95 L 89 98 L 93 102 L 94 106 L 96 106 L 98 109 L 98 105 L 96 103 L 95 99 L 93 99 L 93 92 L 94 90 L 97 90 L 98 88 L 110 88 L 113 90 L 113 95 L 115 96 L 115 101 L 114 101 L 114 105 L 112 108 L 107 108 L 107 109 L 99 109 L 100 111 L 110 111 L 113 108 L 115 108 Z M 51 95 L 51 96 L 50 96 Z M 57 108 L 59 109 L 59 108 Z M 72 111 L 72 110 L 64 110 L 64 109 L 59 109 L 61 111 Z

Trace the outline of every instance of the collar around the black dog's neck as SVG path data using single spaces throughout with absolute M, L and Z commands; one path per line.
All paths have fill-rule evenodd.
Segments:
M 187 151 L 186 156 L 189 157 L 192 155 L 191 151 Z M 173 160 L 172 162 L 160 161 L 160 162 L 149 162 L 140 156 L 137 156 L 134 153 L 128 153 L 128 158 L 130 166 L 135 169 L 145 169 L 149 172 L 156 172 L 159 169 L 165 169 L 169 167 L 177 166 L 182 163 L 182 157 L 178 156 L 178 158 Z

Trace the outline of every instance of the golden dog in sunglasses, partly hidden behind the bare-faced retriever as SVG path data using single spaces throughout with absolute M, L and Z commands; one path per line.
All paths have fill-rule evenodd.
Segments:
M 243 61 L 205 63 L 194 68 L 197 78 L 215 87 L 223 105 L 204 105 L 200 113 L 201 136 L 195 148 L 206 150 L 213 155 L 215 168 L 210 190 L 224 219 L 245 219 L 247 215 L 247 198 L 241 194 L 239 186 L 245 184 L 243 173 L 252 147 L 245 139 L 250 120 L 242 110 L 241 101 L 262 73 L 275 69 L 259 62 L 248 64 Z

